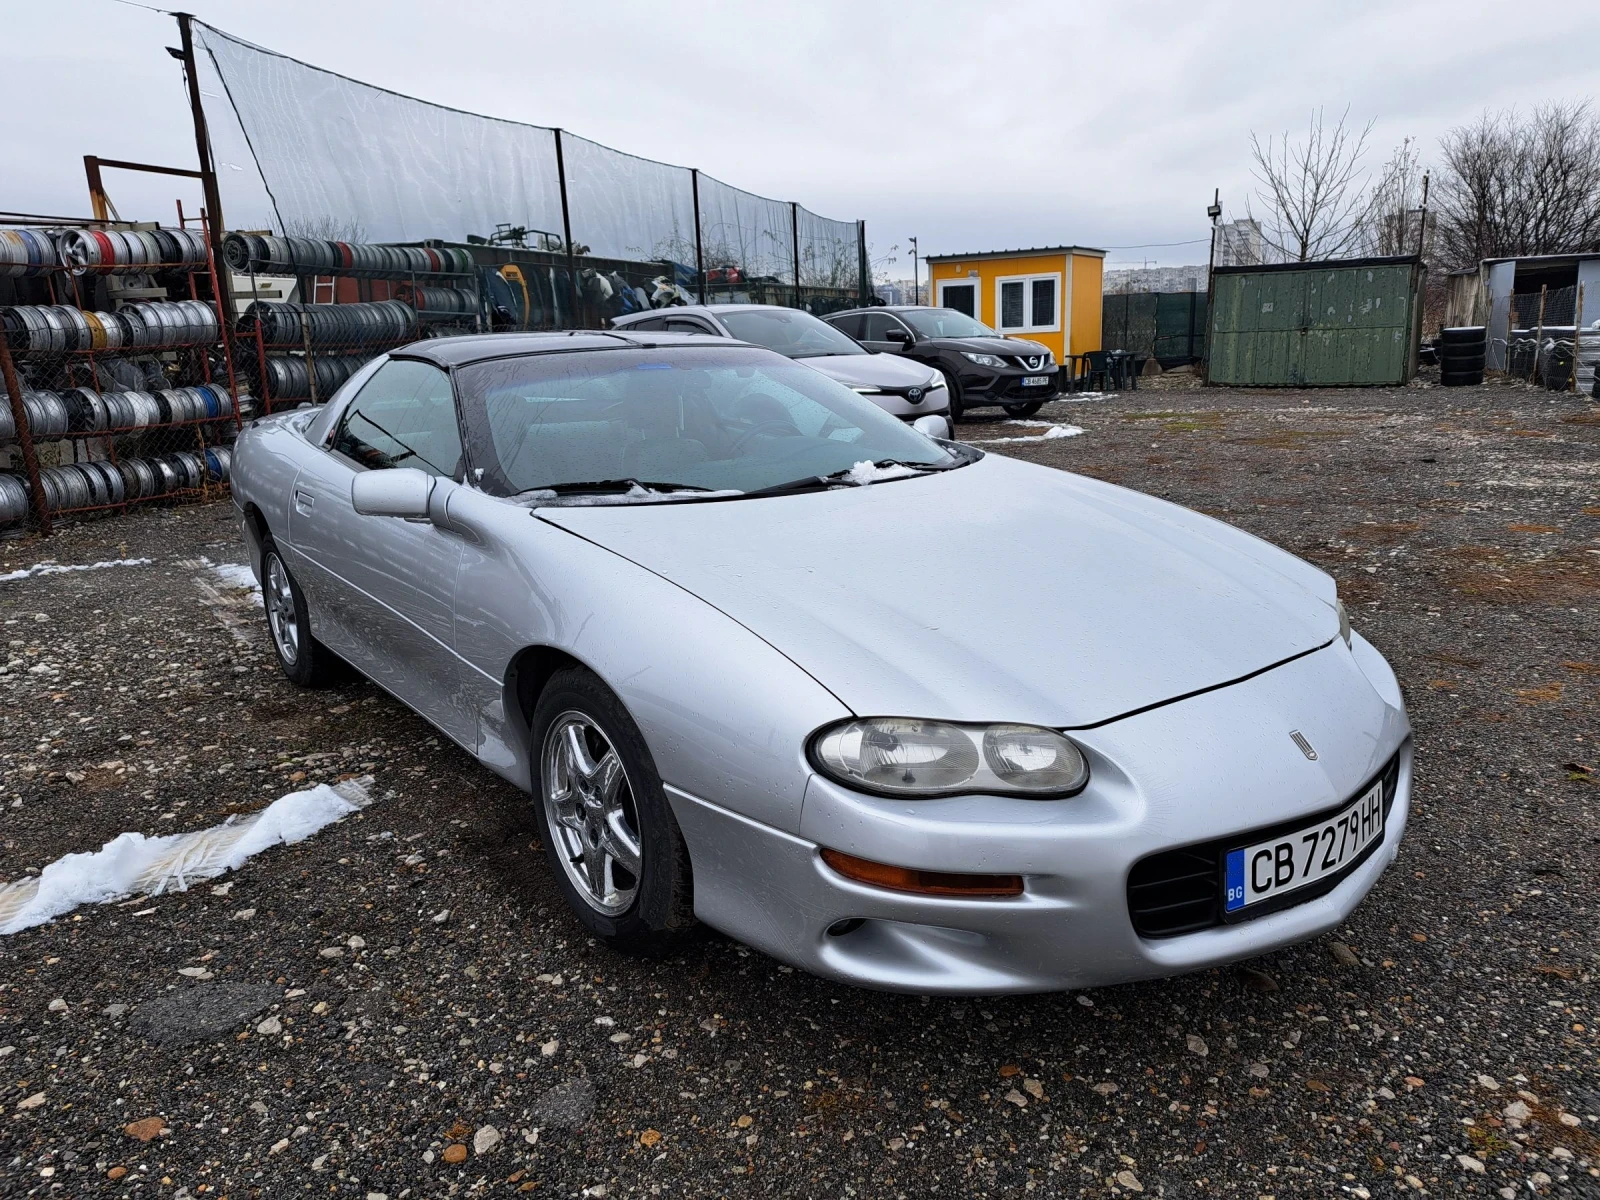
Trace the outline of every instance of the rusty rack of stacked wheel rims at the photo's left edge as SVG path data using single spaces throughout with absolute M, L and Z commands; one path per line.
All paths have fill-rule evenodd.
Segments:
M 0 534 L 227 491 L 240 398 L 200 227 L 0 229 Z

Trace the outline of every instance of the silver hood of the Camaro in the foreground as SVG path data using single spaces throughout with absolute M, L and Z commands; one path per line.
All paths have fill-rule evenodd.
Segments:
M 864 488 L 536 515 L 722 610 L 859 715 L 1094 725 L 1339 630 L 1333 581 L 1283 550 L 995 454 Z

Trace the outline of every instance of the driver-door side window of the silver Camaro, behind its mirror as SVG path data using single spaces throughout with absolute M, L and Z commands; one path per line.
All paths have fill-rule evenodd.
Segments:
M 456 477 L 461 429 L 450 376 L 429 363 L 390 358 L 344 410 L 333 450 L 370 470 L 418 467 Z

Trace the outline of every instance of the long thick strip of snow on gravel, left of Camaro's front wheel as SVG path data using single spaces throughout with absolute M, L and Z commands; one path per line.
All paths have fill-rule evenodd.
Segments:
M 0 886 L 0 934 L 27 930 L 80 904 L 186 891 L 234 870 L 262 850 L 304 842 L 371 803 L 371 778 L 280 795 L 259 813 L 192 834 L 118 834 L 94 851 L 64 854 L 37 877 Z

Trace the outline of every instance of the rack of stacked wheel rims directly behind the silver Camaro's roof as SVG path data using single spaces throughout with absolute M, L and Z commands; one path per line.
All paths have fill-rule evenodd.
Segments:
M 259 298 L 266 275 L 293 277 L 302 298 L 253 299 L 234 330 L 235 370 L 269 413 L 325 402 L 386 350 L 486 328 L 461 248 L 229 234 L 222 256 L 243 294 Z

